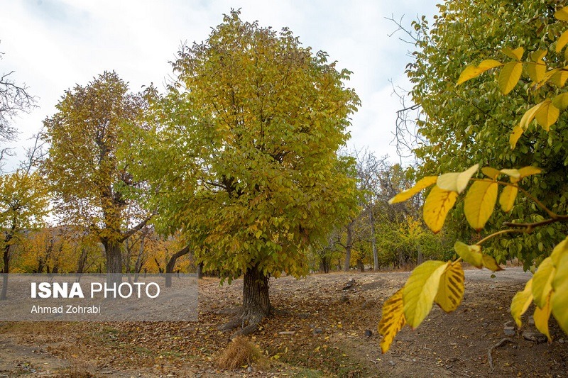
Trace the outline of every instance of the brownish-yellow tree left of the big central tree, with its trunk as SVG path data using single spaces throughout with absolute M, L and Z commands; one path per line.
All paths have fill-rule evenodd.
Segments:
M 58 112 L 44 121 L 50 143 L 43 169 L 64 223 L 89 229 L 104 245 L 107 272 L 122 271 L 121 244 L 147 219 L 129 228 L 129 189 L 139 186 L 129 173 L 126 128 L 138 127 L 143 96 L 129 93 L 115 72 L 65 92 Z

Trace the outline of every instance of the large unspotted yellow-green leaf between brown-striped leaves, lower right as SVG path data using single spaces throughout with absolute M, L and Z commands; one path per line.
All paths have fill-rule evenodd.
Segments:
M 430 313 L 439 280 L 449 262 L 430 260 L 417 266 L 403 287 L 404 317 L 413 329 Z

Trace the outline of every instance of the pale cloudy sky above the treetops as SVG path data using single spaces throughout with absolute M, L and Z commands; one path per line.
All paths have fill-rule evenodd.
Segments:
M 153 82 L 163 89 L 181 43 L 207 39 L 223 13 L 241 9 L 244 21 L 290 28 L 303 45 L 329 53 L 340 68 L 354 72 L 349 87 L 361 97 L 353 117 L 349 148 L 369 148 L 398 161 L 391 145 L 398 98 L 392 80 L 409 88 L 405 79 L 408 50 L 403 34 L 386 18 L 431 18 L 437 0 L 11 0 L 0 13 L 0 72 L 25 82 L 38 97 L 38 108 L 21 114 L 15 145 L 23 146 L 41 121 L 55 113 L 66 89 L 85 85 L 104 70 L 115 70 L 133 91 Z

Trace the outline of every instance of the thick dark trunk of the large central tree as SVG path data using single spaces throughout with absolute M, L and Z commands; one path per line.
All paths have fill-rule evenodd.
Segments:
M 247 318 L 263 318 L 271 313 L 268 280 L 258 266 L 246 269 L 243 284 L 243 311 Z

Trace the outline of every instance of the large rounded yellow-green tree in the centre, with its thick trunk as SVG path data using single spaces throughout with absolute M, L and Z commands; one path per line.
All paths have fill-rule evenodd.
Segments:
M 173 69 L 138 161 L 160 190 L 157 223 L 202 245 L 205 269 L 244 274 L 243 313 L 227 328 L 248 322 L 246 333 L 273 311 L 270 277 L 307 273 L 310 242 L 356 209 L 353 162 L 337 152 L 359 99 L 324 52 L 239 11 Z

